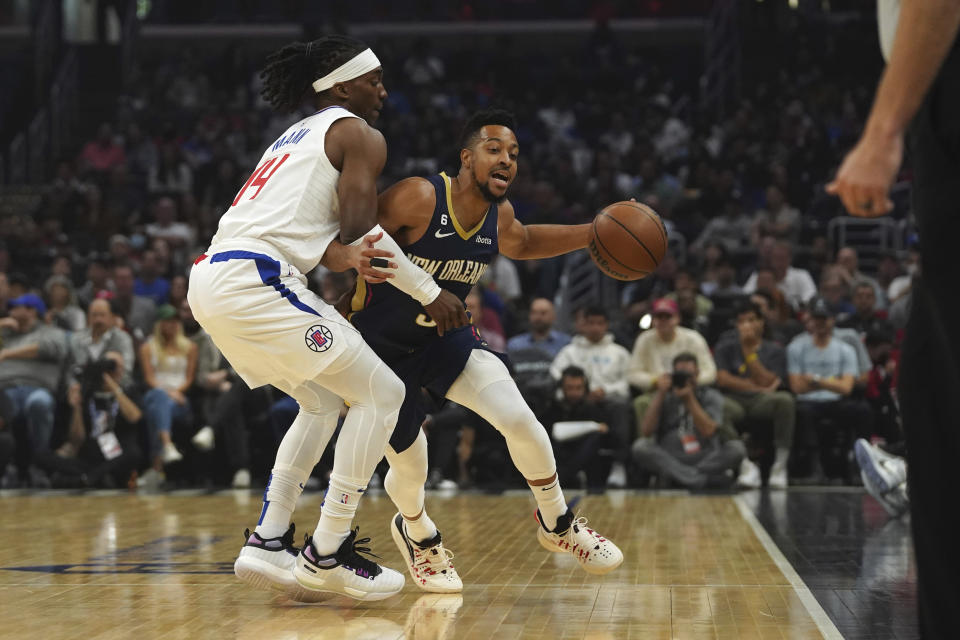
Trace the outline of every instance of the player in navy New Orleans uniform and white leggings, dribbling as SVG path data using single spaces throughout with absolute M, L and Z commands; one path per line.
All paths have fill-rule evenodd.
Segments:
M 465 298 L 499 252 L 508 258 L 549 258 L 587 246 L 590 225 L 528 225 L 515 217 L 506 199 L 517 174 L 520 147 L 513 116 L 501 110 L 470 118 L 460 141 L 459 173 L 408 178 L 380 195 L 378 221 L 414 264 L 444 289 Z M 374 229 L 374 231 L 378 231 Z M 348 265 L 337 243 L 324 264 Z M 384 276 L 388 272 L 383 272 Z M 404 381 L 407 393 L 390 439 L 390 471 L 384 486 L 399 508 L 390 526 L 410 574 L 425 591 L 463 588 L 443 548 L 440 533 L 424 507 L 427 443 L 420 388 L 471 409 L 500 431 L 510 456 L 536 498 L 537 537 L 550 551 L 573 554 L 589 573 L 612 571 L 623 554 L 609 540 L 575 518 L 557 479 L 546 430 L 510 377 L 502 356 L 489 350 L 473 326 L 438 335 L 422 307 L 387 284 L 359 279 L 347 313 L 364 340 Z

